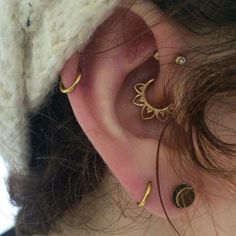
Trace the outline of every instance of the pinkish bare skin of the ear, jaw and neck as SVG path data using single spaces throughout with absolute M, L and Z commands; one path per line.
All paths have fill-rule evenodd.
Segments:
M 140 118 L 140 109 L 132 104 L 135 96 L 133 85 L 155 77 L 147 97 L 157 106 L 168 103 L 164 96 L 167 80 L 187 72 L 173 63 L 176 55 L 201 45 L 204 40 L 193 36 L 170 19 L 163 20 L 163 13 L 151 2 L 136 1 L 130 8 L 131 3 L 123 1 L 122 8 L 97 30 L 82 54 L 74 54 L 61 71 L 63 83 L 69 87 L 78 76 L 78 66 L 82 68 L 82 80 L 76 90 L 68 95 L 69 100 L 78 122 L 111 173 L 99 191 L 84 200 L 85 209 L 81 204 L 73 219 L 65 216 L 67 221 L 74 222 L 83 220 L 86 214 L 92 215 L 89 225 L 97 230 L 71 229 L 63 225 L 64 233 L 58 235 L 103 236 L 111 235 L 111 232 L 122 236 L 175 235 L 161 206 L 156 180 L 157 144 L 164 124 Z M 125 8 L 129 11 L 124 16 Z M 154 26 L 154 22 L 159 23 Z M 124 43 L 142 31 L 146 33 L 130 43 Z M 114 47 L 117 44 L 121 46 Z M 110 50 L 94 54 L 108 48 Z M 159 63 L 149 61 L 156 49 L 160 53 Z M 144 61 L 148 63 L 143 66 Z M 176 87 L 181 88 L 181 83 Z M 175 103 L 185 93 L 181 89 L 171 92 Z M 209 111 L 212 112 L 209 112 L 209 117 L 213 116 L 214 105 L 213 110 Z M 173 169 L 173 163 L 169 160 L 174 160 L 174 141 L 169 140 L 167 132 L 160 149 L 158 168 L 163 203 L 179 232 L 184 235 L 213 236 L 217 235 L 216 232 L 220 236 L 234 235 L 236 209 L 229 185 L 194 166 L 184 166 L 186 172 L 183 172 L 179 163 L 173 161 Z M 136 201 L 142 198 L 149 180 L 153 182 L 152 193 L 145 209 L 139 209 Z M 175 186 L 183 182 L 190 182 L 194 186 L 196 199 L 191 207 L 180 210 L 174 206 L 171 194 Z M 104 194 L 105 198 L 99 197 Z M 122 203 L 116 207 L 120 199 Z M 137 217 L 142 214 L 146 217 L 152 214 L 152 217 L 149 220 Z M 111 219 L 115 223 L 106 227 L 112 222 Z M 132 231 L 131 223 L 135 231 Z M 128 230 L 122 232 L 123 228 Z

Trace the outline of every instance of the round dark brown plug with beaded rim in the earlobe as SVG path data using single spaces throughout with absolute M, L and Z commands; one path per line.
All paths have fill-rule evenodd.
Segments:
M 186 208 L 195 200 L 195 193 L 193 188 L 188 184 L 181 184 L 177 186 L 173 193 L 173 201 L 178 208 Z

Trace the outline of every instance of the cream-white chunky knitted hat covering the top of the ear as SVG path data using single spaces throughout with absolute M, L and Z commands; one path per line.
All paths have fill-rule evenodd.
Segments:
M 65 61 L 120 0 L 0 0 L 0 155 L 28 164 L 27 109 L 43 102 Z

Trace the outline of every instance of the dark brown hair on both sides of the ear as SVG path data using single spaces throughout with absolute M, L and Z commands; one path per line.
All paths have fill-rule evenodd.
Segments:
M 212 39 L 211 45 L 188 52 L 188 56 L 208 60 L 199 60 L 185 79 L 184 89 L 189 92 L 182 97 L 181 115 L 177 119 L 185 131 L 186 148 L 181 147 L 179 161 L 188 161 L 199 170 L 231 180 L 236 168 L 227 163 L 235 158 L 235 145 L 219 139 L 209 129 L 206 107 L 214 100 L 223 104 L 223 98 L 234 96 L 236 90 L 236 2 L 153 0 L 153 3 L 196 35 Z M 234 104 L 227 107 L 234 110 Z M 9 192 L 20 208 L 17 234 L 48 234 L 69 208 L 96 191 L 107 167 L 57 86 L 36 113 L 29 113 L 28 119 L 29 173 L 11 173 Z M 209 155 L 209 149 L 223 154 L 224 160 L 216 161 Z

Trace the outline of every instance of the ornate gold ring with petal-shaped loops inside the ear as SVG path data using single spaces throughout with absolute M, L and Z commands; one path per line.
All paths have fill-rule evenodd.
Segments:
M 154 108 L 146 99 L 145 93 L 149 85 L 154 81 L 154 79 L 149 80 L 145 83 L 137 83 L 134 85 L 135 91 L 138 95 L 133 99 L 133 104 L 142 107 L 141 117 L 143 120 L 150 120 L 156 117 L 161 122 L 165 122 L 169 119 L 170 115 L 174 112 L 174 104 L 171 103 L 169 106 L 158 109 Z

